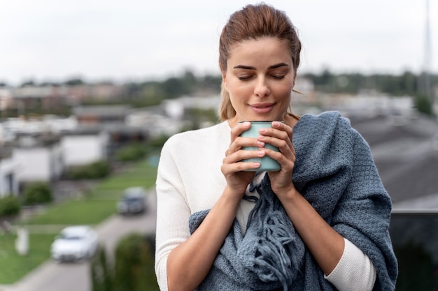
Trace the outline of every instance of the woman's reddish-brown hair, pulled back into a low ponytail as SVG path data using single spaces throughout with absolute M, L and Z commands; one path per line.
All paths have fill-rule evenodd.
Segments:
M 222 29 L 219 40 L 219 68 L 227 70 L 227 59 L 232 47 L 244 40 L 274 37 L 283 40 L 289 47 L 295 74 L 299 66 L 301 42 L 289 17 L 281 10 L 264 3 L 248 5 L 233 13 Z M 236 115 L 222 80 L 219 116 L 222 121 Z

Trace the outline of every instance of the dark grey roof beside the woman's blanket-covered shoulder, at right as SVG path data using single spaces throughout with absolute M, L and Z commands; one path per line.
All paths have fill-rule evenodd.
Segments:
M 418 204 L 418 198 L 430 199 L 430 195 L 438 193 L 437 121 L 418 115 L 394 122 L 393 117 L 386 116 L 351 118 L 351 124 L 369 143 L 383 185 L 394 204 L 414 205 Z M 434 205 L 429 206 L 438 208 Z

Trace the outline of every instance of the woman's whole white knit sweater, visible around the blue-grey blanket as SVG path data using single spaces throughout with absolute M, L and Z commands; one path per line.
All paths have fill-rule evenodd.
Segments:
M 155 272 L 160 290 L 167 291 L 167 257 L 190 236 L 191 214 L 211 209 L 226 186 L 220 172 L 229 147 L 227 121 L 172 136 L 164 144 L 157 173 L 157 241 Z M 236 218 L 245 230 L 254 203 L 242 200 Z M 337 267 L 325 278 L 338 290 L 372 290 L 376 269 L 347 239 Z

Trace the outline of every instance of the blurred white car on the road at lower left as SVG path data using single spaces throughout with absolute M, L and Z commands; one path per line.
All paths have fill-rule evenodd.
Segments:
M 55 237 L 50 254 L 56 262 L 77 262 L 92 258 L 98 246 L 97 232 L 92 227 L 69 226 Z

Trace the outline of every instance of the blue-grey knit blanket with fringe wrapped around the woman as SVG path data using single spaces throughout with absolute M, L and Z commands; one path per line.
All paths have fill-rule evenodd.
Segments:
M 394 290 L 397 260 L 388 232 L 391 201 L 369 146 L 338 112 L 306 114 L 293 130 L 297 160 L 292 181 L 327 223 L 358 246 L 377 271 L 374 290 Z M 246 232 L 227 235 L 198 291 L 336 290 L 272 192 L 266 174 L 250 184 L 253 199 Z M 190 216 L 190 232 L 209 209 Z

